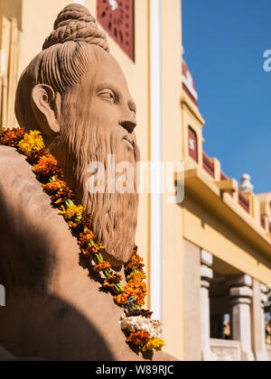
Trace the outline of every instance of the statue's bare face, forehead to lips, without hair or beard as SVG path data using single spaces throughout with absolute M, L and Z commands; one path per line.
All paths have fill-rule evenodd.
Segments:
M 98 120 L 99 133 L 105 135 L 108 143 L 116 145 L 117 151 L 111 153 L 117 153 L 122 161 L 135 163 L 136 107 L 117 61 L 108 55 L 96 71 L 94 84 L 91 72 L 85 74 L 81 83 L 92 88 L 89 112 Z

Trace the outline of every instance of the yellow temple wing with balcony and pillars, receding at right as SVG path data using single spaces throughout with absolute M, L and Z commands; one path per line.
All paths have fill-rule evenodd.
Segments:
M 239 186 L 204 153 L 204 120 L 184 61 L 182 89 L 184 354 L 187 360 L 268 360 L 270 194 L 253 193 L 249 175 Z

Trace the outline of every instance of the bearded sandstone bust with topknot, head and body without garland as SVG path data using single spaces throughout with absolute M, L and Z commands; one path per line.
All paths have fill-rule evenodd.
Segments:
M 84 6 L 68 5 L 57 17 L 43 51 L 23 71 L 15 112 L 21 126 L 42 133 L 77 202 L 92 215 L 105 258 L 121 270 L 135 244 L 138 196 L 135 190 L 92 193 L 88 167 L 102 162 L 108 171 L 107 155 L 114 155 L 116 164 L 135 168 L 135 103 Z M 126 345 L 118 324 L 123 309 L 99 291 L 58 212 L 25 157 L 0 146 L 0 283 L 6 289 L 0 352 L 50 360 L 147 358 Z M 155 353 L 154 360 L 171 357 Z

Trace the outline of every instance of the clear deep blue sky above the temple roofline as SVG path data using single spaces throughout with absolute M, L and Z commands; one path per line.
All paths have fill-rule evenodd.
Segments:
M 182 0 L 182 27 L 205 152 L 229 177 L 247 172 L 257 193 L 271 192 L 271 0 Z

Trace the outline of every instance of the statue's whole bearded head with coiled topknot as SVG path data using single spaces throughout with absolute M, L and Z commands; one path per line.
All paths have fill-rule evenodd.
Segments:
M 23 71 L 15 112 L 19 125 L 42 133 L 46 148 L 76 191 L 76 200 L 92 216 L 92 229 L 119 266 L 135 244 L 138 195 L 89 193 L 90 162 L 109 167 L 140 161 L 135 139 L 135 103 L 126 78 L 108 51 L 107 38 L 82 5 L 68 5 L 58 15 L 43 50 Z

